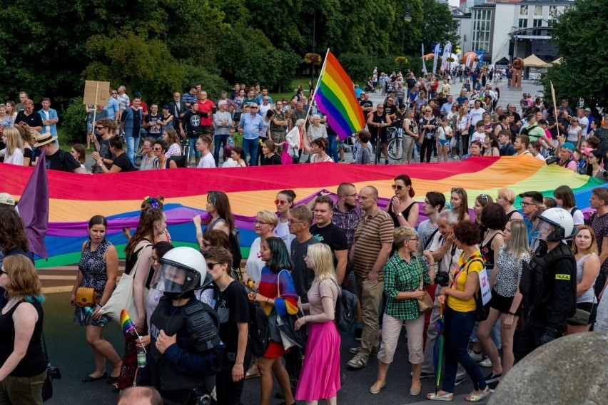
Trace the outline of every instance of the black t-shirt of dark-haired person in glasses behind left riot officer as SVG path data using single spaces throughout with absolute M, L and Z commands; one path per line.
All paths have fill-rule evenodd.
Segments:
M 236 353 L 238 349 L 237 323 L 249 322 L 249 299 L 245 287 L 233 281 L 225 290 L 220 291 L 219 287 L 213 284 L 211 304 L 220 317 L 220 337 L 226 344 L 226 351 Z

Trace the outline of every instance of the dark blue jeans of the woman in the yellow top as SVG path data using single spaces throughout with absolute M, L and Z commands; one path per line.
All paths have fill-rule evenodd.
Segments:
M 462 364 L 471 377 L 473 389 L 485 389 L 487 386 L 479 366 L 468 353 L 469 337 L 475 326 L 473 314 L 474 311 L 456 312 L 447 305 L 445 307 L 445 329 L 443 331 L 445 375 L 441 388 L 443 391 L 454 392 L 458 363 Z

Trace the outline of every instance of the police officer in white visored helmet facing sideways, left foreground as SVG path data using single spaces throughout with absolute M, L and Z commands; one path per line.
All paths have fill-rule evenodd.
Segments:
M 150 319 L 148 368 L 164 404 L 205 404 L 221 369 L 218 316 L 195 289 L 213 281 L 200 252 L 176 247 L 160 260 L 156 289 L 164 290 Z

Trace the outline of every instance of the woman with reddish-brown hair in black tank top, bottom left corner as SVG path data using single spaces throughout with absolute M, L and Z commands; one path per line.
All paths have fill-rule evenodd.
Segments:
M 42 405 L 44 297 L 31 260 L 23 255 L 5 257 L 0 287 L 8 297 L 0 315 L 0 397 L 6 404 Z

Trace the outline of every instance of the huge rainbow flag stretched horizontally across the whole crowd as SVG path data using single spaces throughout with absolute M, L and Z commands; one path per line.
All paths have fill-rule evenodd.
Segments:
M 0 163 L 0 193 L 19 198 L 32 168 Z M 422 201 L 427 191 L 440 191 L 449 198 L 453 187 L 467 190 L 469 206 L 480 193 L 496 197 L 497 190 L 511 188 L 519 194 L 537 190 L 551 196 L 559 185 L 574 190 L 577 206 L 589 211 L 591 190 L 604 183 L 597 178 L 577 175 L 556 165 L 544 165 L 527 156 L 470 158 L 458 163 L 425 163 L 415 165 L 343 165 L 315 163 L 285 166 L 218 169 L 176 169 L 146 172 L 76 175 L 49 170 L 49 231 L 45 242 L 49 260 L 37 258 L 36 267 L 71 265 L 80 259 L 80 247 L 88 233 L 86 226 L 93 215 L 108 218 L 108 239 L 123 257 L 126 239 L 124 226 L 135 229 L 141 200 L 146 195 L 163 195 L 168 230 L 175 245 L 196 247 L 192 217 L 204 213 L 208 190 L 223 190 L 240 230 L 244 257 L 255 239 L 253 220 L 260 210 L 275 210 L 278 191 L 291 188 L 296 203 L 315 198 L 320 190 L 335 193 L 343 182 L 354 183 L 358 190 L 374 185 L 384 207 L 394 192 L 392 179 L 402 173 L 410 175 L 415 200 Z M 520 207 L 520 200 L 515 202 Z

